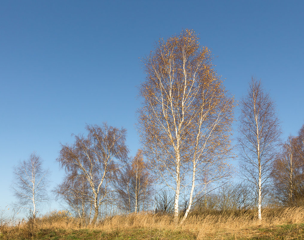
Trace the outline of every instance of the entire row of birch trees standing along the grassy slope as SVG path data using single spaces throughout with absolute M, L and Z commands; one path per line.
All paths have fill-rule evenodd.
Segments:
M 142 149 L 134 157 L 126 129 L 107 123 L 87 125 L 86 135 L 61 144 L 57 162 L 65 176 L 53 192 L 82 224 L 143 210 L 173 214 L 182 224 L 190 211 L 254 207 L 261 220 L 266 196 L 276 205 L 304 203 L 304 125 L 282 144 L 275 101 L 252 77 L 240 100 L 238 146 L 232 151 L 235 99 L 216 73 L 211 51 L 198 40 L 193 30 L 183 30 L 160 39 L 142 59 Z M 229 160 L 236 157 L 245 183 L 229 181 Z M 35 218 L 36 204 L 47 199 L 48 171 L 32 154 L 14 173 L 16 196 Z

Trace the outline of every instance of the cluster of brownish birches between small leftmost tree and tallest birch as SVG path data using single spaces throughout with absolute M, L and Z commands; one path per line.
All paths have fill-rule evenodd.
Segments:
M 87 125 L 87 136 L 75 135 L 72 145 L 61 145 L 57 161 L 65 169 L 55 190 L 82 220 L 150 209 L 152 181 L 141 150 L 129 158 L 126 129 L 104 123 Z M 92 217 L 93 216 L 93 217 Z

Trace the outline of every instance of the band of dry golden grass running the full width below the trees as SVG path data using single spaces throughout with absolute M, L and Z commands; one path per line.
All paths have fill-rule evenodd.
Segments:
M 88 226 L 85 229 L 109 234 L 111 232 L 121 233 L 125 231 L 129 232 L 129 235 L 132 231 L 142 229 L 146 234 L 146 237 L 142 237 L 142 239 L 154 239 L 152 235 L 155 232 L 162 236 L 157 239 L 167 239 L 167 235 L 160 234 L 164 232 L 170 232 L 170 238 L 172 232 L 187 233 L 189 235 L 189 238 L 183 236 L 181 239 L 193 239 L 193 236 L 196 239 L 302 239 L 299 237 L 302 234 L 304 237 L 304 225 L 302 225 L 304 223 L 304 207 L 264 210 L 261 223 L 257 221 L 254 215 L 254 212 L 192 214 L 184 224 L 176 226 L 171 216 L 140 213 L 108 217 L 96 226 Z M 46 214 L 38 219 L 36 226 L 33 227 L 36 231 L 34 236 L 29 233 L 32 232 L 32 229 L 30 229 L 28 223 L 7 227 L 3 230 L 0 239 L 35 238 L 46 229 L 50 231 L 61 229 L 65 231 L 64 234 L 84 229 L 81 228 L 80 221 L 71 217 L 66 211 L 54 211 Z M 147 234 L 149 231 L 150 235 Z M 150 236 L 150 238 L 147 236 Z M 117 236 L 116 238 L 119 239 Z

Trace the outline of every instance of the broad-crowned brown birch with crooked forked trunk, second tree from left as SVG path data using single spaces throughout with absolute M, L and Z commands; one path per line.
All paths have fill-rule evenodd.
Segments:
M 71 180 L 84 178 L 92 194 L 85 194 L 94 206 L 94 225 L 99 207 L 109 191 L 110 175 L 120 168 L 119 162 L 128 155 L 126 129 L 118 129 L 104 123 L 102 126 L 87 125 L 88 136 L 74 135 L 72 145 L 61 145 L 57 161 Z

